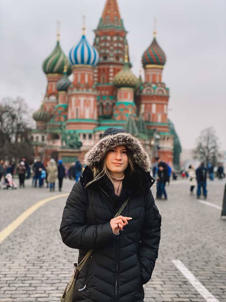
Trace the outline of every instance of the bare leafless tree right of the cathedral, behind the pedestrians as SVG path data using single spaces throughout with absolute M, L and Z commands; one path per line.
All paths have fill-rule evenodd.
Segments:
M 193 158 L 205 162 L 206 165 L 209 162 L 216 165 L 220 157 L 219 139 L 216 131 L 213 127 L 202 130 L 197 139 L 197 146 L 193 150 Z

